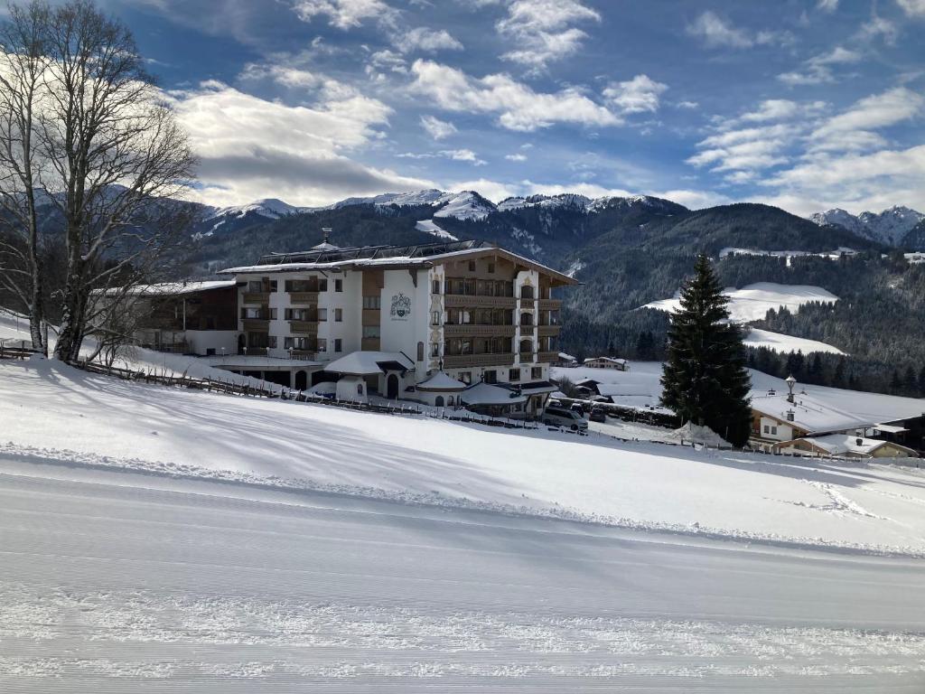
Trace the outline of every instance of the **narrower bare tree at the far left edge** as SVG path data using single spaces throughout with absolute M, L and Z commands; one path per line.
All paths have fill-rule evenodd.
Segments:
M 33 129 L 47 66 L 49 9 L 10 7 L 0 27 L 0 288 L 29 316 L 32 347 L 44 349 L 43 264 L 36 190 L 41 158 Z

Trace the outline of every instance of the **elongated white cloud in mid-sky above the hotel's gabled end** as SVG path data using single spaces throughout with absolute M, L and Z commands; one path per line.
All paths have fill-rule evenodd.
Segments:
M 610 126 L 622 122 L 574 89 L 537 93 L 508 75 L 477 79 L 460 69 L 422 59 L 414 61 L 412 72 L 414 93 L 424 94 L 449 111 L 497 113 L 499 124 L 508 130 L 530 131 L 553 123 Z

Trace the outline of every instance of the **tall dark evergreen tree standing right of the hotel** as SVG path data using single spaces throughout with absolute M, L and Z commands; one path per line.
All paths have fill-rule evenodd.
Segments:
M 661 402 L 685 421 L 742 446 L 751 428 L 742 332 L 728 320 L 729 300 L 706 255 L 697 258 L 694 272 L 668 329 Z

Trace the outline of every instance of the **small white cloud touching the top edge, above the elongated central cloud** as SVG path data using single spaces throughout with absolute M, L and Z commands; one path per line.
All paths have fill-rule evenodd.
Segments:
M 600 15 L 578 0 L 513 0 L 497 29 L 516 47 L 502 57 L 530 68 L 545 68 L 581 47 L 587 34 L 574 25 L 582 21 L 600 21 Z

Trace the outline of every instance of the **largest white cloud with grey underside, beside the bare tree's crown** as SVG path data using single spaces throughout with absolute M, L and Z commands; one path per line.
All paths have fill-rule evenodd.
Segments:
M 328 204 L 349 195 L 433 186 L 350 158 L 388 124 L 390 109 L 376 99 L 330 89 L 311 107 L 290 106 L 216 81 L 166 96 L 200 156 L 204 202 L 279 197 Z

